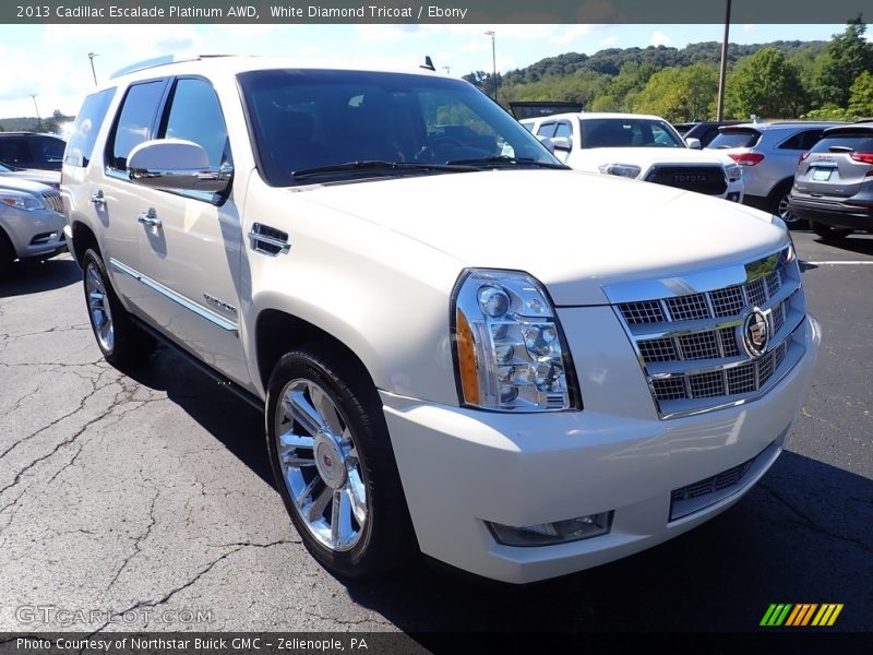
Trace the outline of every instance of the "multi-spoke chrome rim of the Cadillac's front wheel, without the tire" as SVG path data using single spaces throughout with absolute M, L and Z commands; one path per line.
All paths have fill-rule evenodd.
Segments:
M 349 422 L 312 380 L 285 384 L 274 418 L 276 453 L 291 507 L 324 547 L 347 551 L 367 524 L 367 488 Z

